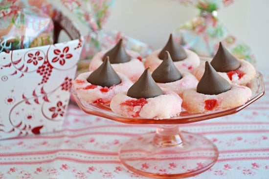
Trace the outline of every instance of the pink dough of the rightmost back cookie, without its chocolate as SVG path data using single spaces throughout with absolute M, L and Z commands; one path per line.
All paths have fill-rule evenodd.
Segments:
M 243 59 L 238 59 L 240 62 L 240 67 L 238 70 L 242 71 L 245 73 L 245 75 L 239 79 L 237 74 L 232 75 L 232 80 L 229 79 L 228 75 L 226 72 L 218 72 L 225 80 L 229 81 L 230 83 L 236 83 L 240 85 L 247 85 L 248 82 L 250 82 L 252 79 L 254 79 L 256 75 L 256 71 L 254 66 L 249 63 L 246 60 Z M 204 73 L 204 63 L 201 63 L 199 67 L 194 71 L 194 76 L 200 80 L 202 78 L 202 75 Z

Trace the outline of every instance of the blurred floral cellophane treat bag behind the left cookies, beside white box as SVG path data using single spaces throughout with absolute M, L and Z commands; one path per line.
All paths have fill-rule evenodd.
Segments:
M 133 50 L 146 57 L 151 53 L 151 47 L 137 39 L 134 39 L 118 30 L 104 29 L 110 8 L 114 0 L 49 0 L 59 7 L 63 4 L 64 12 L 71 12 L 76 17 L 75 21 L 84 25 L 84 47 L 81 60 L 78 64 L 78 73 L 89 70 L 89 63 L 92 56 L 105 49 L 110 49 L 118 40 L 123 39 L 126 49 Z M 58 4 L 58 5 L 57 5 Z

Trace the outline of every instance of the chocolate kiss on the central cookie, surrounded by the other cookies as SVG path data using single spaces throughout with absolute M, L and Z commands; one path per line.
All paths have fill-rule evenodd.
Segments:
M 175 66 L 170 53 L 166 51 L 166 57 L 161 64 L 153 71 L 152 78 L 156 82 L 167 83 L 180 80 L 182 75 Z

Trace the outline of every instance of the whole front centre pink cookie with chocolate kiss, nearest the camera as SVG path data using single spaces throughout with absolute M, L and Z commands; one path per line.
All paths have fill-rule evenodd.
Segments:
M 178 94 L 160 88 L 146 69 L 127 92 L 112 98 L 110 107 L 113 112 L 128 118 L 169 119 L 179 116 L 181 103 Z

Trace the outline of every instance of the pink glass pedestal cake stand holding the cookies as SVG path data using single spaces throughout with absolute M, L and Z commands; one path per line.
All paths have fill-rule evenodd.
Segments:
M 217 161 L 219 152 L 209 139 L 179 130 L 179 124 L 222 117 L 239 112 L 265 93 L 261 73 L 257 73 L 249 87 L 251 99 L 246 104 L 227 110 L 190 114 L 182 111 L 170 119 L 125 118 L 112 112 L 108 106 L 88 104 L 73 97 L 86 113 L 127 124 L 158 124 L 155 132 L 138 135 L 125 142 L 118 154 L 122 164 L 136 174 L 156 179 L 179 179 L 198 175 Z

